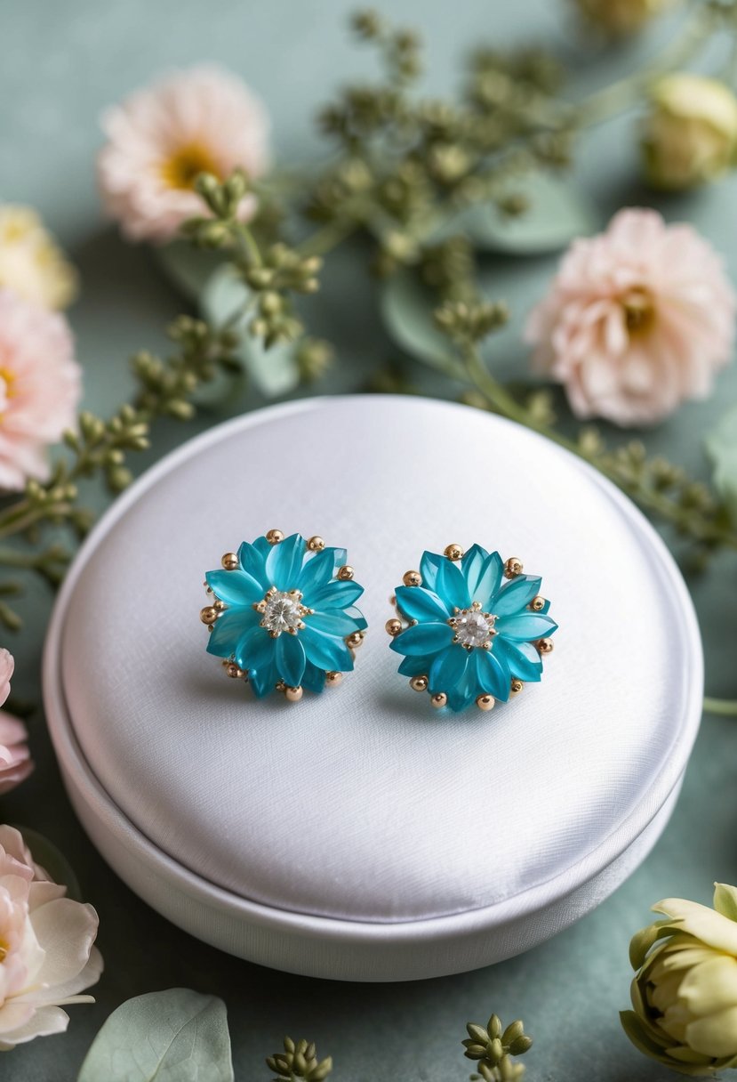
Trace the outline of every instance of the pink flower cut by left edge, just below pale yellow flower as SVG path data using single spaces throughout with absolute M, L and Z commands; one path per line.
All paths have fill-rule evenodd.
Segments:
M 0 289 L 0 489 L 48 477 L 46 445 L 75 427 L 80 394 L 64 316 Z

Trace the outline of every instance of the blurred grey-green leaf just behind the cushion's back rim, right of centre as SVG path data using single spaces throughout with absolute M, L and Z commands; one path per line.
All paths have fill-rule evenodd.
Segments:
M 381 286 L 379 306 L 390 337 L 406 353 L 443 372 L 458 361 L 447 338 L 433 322 L 438 300 L 412 270 L 399 270 Z

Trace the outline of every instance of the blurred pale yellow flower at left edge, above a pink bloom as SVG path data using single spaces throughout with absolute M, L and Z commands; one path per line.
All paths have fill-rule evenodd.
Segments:
M 66 308 L 77 273 L 30 207 L 0 204 L 0 288 L 44 308 Z

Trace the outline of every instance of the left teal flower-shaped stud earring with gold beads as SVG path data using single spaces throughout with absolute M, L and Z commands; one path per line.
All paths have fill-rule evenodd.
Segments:
M 297 702 L 352 670 L 366 621 L 353 606 L 363 586 L 345 549 L 269 530 L 222 564 L 205 576 L 200 619 L 207 652 L 223 658 L 228 676 L 246 679 L 258 699 L 277 690 Z

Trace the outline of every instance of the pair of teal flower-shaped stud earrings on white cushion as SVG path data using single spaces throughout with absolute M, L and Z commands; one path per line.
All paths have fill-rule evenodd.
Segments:
M 553 647 L 558 624 L 540 585 L 515 557 L 504 562 L 478 544 L 423 553 L 419 570 L 407 571 L 391 597 L 397 616 L 386 624 L 391 649 L 403 656 L 400 674 L 438 709 L 506 702 L 540 679 Z M 226 553 L 205 588 L 207 652 L 257 698 L 277 690 L 297 702 L 352 670 L 367 624 L 345 549 L 269 530 Z

